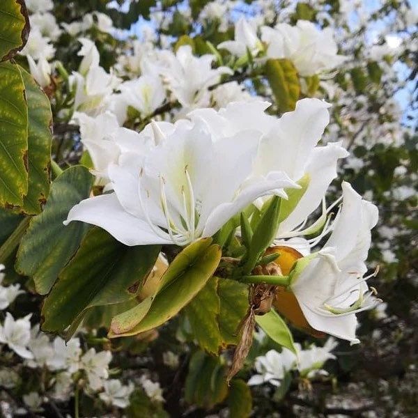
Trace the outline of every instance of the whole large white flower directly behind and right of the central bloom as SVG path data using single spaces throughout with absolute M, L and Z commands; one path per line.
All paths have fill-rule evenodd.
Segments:
M 197 109 L 190 113 L 192 120 L 206 123 L 210 132 L 219 137 L 254 127 L 261 132 L 261 144 L 251 173 L 252 179 L 268 176 L 272 171 L 284 171 L 294 182 L 304 179 L 307 189 L 294 210 L 281 222 L 277 238 L 304 235 L 293 232 L 296 226 L 314 212 L 336 178 L 336 163 L 346 157 L 340 143 L 317 146 L 330 122 L 330 104 L 318 99 L 302 99 L 294 111 L 277 119 L 265 114 L 270 103 L 254 100 L 235 102 L 216 112 Z

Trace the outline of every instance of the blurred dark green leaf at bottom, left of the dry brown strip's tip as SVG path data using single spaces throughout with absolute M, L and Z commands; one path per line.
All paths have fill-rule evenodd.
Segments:
M 219 357 L 198 351 L 192 355 L 185 382 L 185 401 L 201 408 L 212 408 L 228 394 L 226 366 Z

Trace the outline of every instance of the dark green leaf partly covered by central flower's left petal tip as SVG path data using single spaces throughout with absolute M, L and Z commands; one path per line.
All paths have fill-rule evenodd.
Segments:
M 83 222 L 64 226 L 63 221 L 72 206 L 88 197 L 92 185 L 93 176 L 85 167 L 65 170 L 52 182 L 44 210 L 31 219 L 22 238 L 15 267 L 20 274 L 33 278 L 41 295 L 52 288 L 88 229 Z

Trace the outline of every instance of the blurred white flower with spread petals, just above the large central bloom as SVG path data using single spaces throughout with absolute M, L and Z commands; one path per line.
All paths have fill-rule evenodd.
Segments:
M 190 45 L 178 48 L 176 55 L 163 51 L 161 59 L 160 72 L 167 79 L 173 95 L 185 107 L 207 105 L 210 98 L 208 87 L 219 82 L 222 74 L 232 74 L 230 68 L 212 69 L 215 56 L 194 56 Z

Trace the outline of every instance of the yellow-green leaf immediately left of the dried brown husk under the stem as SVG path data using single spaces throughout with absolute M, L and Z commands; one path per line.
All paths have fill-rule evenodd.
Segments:
M 247 314 L 248 286 L 231 279 L 219 279 L 219 331 L 225 346 L 239 341 L 238 327 Z

